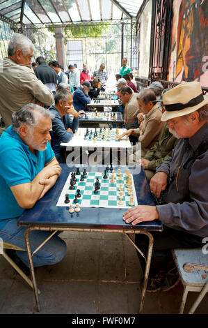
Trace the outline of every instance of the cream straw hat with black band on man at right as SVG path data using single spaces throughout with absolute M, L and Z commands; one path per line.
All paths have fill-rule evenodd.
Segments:
M 166 112 L 163 113 L 161 121 L 190 114 L 207 103 L 200 82 L 179 84 L 163 94 L 163 105 Z

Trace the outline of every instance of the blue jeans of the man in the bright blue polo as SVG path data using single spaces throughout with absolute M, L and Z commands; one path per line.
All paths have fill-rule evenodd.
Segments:
M 24 232 L 26 227 L 17 227 L 18 218 L 12 218 L 4 227 L 0 230 L 0 238 L 3 241 L 18 246 L 26 250 L 26 244 L 24 241 Z M 60 233 L 60 232 L 58 232 Z M 58 234 L 57 233 L 57 234 Z M 29 234 L 31 253 L 35 251 L 35 248 L 40 246 L 47 237 L 51 234 L 50 231 L 33 230 Z M 33 255 L 33 266 L 41 267 L 42 265 L 55 264 L 63 259 L 67 251 L 65 241 L 55 234 L 47 243 L 40 248 L 40 250 Z M 29 267 L 27 252 L 16 251 L 17 256 Z

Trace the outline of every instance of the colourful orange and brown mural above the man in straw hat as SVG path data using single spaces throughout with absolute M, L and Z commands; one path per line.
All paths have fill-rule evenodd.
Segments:
M 173 1 L 169 81 L 199 81 L 208 87 L 207 0 Z

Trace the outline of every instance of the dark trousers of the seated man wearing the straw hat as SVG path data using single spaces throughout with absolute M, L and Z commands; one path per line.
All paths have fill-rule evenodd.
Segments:
M 168 270 L 168 264 L 173 260 L 171 250 L 174 248 L 202 248 L 203 237 L 187 232 L 174 230 L 163 225 L 163 232 L 151 232 L 154 238 L 152 261 L 150 264 L 150 276 L 154 276 L 161 270 Z M 138 248 L 147 256 L 147 236 L 135 234 L 135 242 Z M 139 255 L 143 273 L 145 272 L 145 260 Z

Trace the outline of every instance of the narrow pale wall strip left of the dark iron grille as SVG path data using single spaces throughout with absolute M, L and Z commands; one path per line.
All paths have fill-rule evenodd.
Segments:
M 152 0 L 148 1 L 139 20 L 141 23 L 138 66 L 139 77 L 148 77 L 149 75 L 151 20 Z

